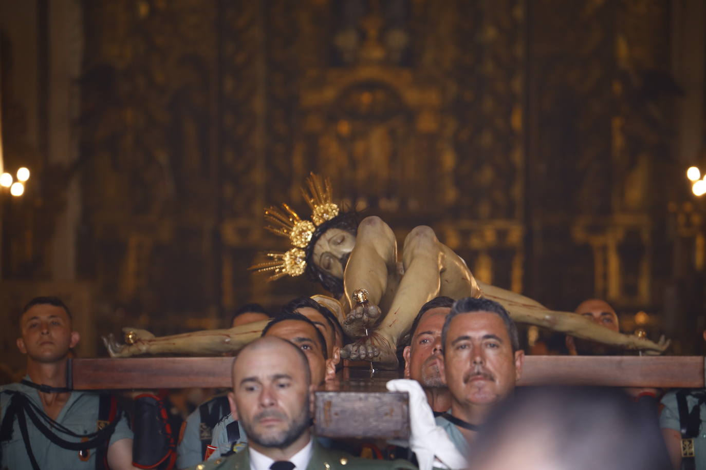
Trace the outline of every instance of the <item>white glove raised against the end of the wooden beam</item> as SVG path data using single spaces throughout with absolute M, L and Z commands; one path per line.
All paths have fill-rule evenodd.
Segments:
M 431 470 L 434 457 L 438 463 L 449 469 L 465 469 L 468 466 L 465 457 L 451 442 L 446 431 L 436 426 L 426 394 L 419 382 L 407 378 L 396 378 L 387 383 L 390 392 L 409 394 L 409 447 L 417 454 L 419 470 Z

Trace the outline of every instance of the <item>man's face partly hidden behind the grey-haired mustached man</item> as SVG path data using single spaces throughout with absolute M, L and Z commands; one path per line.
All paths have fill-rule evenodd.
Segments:
M 412 323 L 409 345 L 402 352 L 405 378 L 421 384 L 433 412 L 445 412 L 451 406 L 451 395 L 441 378 L 441 329 L 451 310 L 453 299 L 436 297 L 421 306 Z

